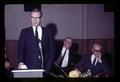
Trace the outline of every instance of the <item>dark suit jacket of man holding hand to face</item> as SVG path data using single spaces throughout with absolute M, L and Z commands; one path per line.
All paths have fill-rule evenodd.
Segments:
M 76 68 L 79 69 L 82 73 L 87 72 L 87 70 L 90 69 L 92 76 L 102 74 L 107 74 L 108 76 L 111 76 L 110 68 L 104 62 L 104 60 L 102 59 L 102 63 L 97 62 L 94 66 L 91 63 L 91 55 L 84 55 Z

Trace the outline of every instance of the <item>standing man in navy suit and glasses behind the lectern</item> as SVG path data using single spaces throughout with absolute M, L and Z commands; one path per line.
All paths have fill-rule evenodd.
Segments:
M 22 30 L 18 44 L 18 69 L 50 71 L 54 59 L 54 42 L 47 28 L 41 26 L 42 12 L 33 9 L 32 26 Z

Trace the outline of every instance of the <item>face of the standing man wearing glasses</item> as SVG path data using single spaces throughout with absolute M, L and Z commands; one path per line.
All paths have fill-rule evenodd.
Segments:
M 32 25 L 38 27 L 41 23 L 41 14 L 40 12 L 32 12 L 31 13 L 31 21 Z

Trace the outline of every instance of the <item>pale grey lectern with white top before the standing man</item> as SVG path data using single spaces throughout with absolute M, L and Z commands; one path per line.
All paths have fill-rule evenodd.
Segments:
M 44 72 L 43 69 L 12 70 L 14 78 L 42 78 Z

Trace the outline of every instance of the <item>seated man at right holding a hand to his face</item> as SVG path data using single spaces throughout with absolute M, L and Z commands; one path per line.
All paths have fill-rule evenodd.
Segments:
M 111 71 L 104 59 L 101 58 L 100 44 L 95 43 L 91 55 L 84 55 L 75 70 L 69 73 L 70 77 L 110 77 Z

